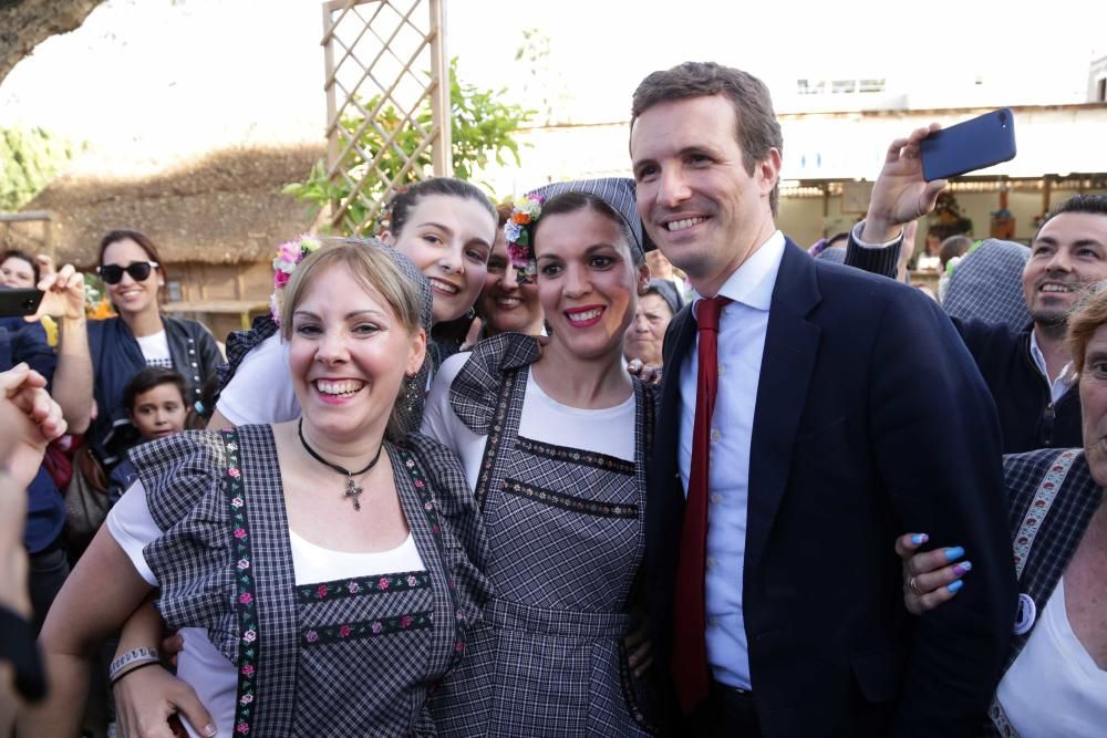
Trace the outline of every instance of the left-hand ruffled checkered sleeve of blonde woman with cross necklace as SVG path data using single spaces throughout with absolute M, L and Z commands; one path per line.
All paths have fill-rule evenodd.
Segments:
M 211 643 L 234 661 L 235 562 L 223 436 L 179 433 L 132 449 L 131 461 L 162 531 L 143 549 L 162 588 L 162 617 L 174 628 L 207 628 Z

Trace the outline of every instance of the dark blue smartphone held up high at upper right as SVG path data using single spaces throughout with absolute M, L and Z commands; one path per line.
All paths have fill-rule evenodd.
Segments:
M 1015 116 L 1004 107 L 922 139 L 922 176 L 949 179 L 1015 158 Z

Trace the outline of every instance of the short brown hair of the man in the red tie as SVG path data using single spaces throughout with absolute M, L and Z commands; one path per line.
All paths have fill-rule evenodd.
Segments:
M 712 95 L 724 95 L 734 106 L 736 136 L 746 174 L 753 175 L 757 163 L 763 162 L 770 149 L 784 154 L 784 136 L 773 112 L 768 87 L 748 72 L 715 62 L 684 62 L 642 80 L 631 102 L 631 128 L 642 113 L 659 103 Z M 774 216 L 779 201 L 780 183 L 777 181 L 769 194 Z

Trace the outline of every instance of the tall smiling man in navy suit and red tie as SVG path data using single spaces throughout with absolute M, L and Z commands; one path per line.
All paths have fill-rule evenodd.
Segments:
M 972 358 L 933 301 L 777 230 L 783 142 L 759 80 L 655 72 L 631 126 L 639 211 L 696 292 L 665 341 L 646 511 L 674 729 L 973 735 L 1015 590 L 995 408 Z M 925 133 L 896 166 L 919 166 Z M 903 207 L 937 194 L 920 184 Z M 919 620 L 892 551 L 903 531 L 960 543 L 974 572 Z

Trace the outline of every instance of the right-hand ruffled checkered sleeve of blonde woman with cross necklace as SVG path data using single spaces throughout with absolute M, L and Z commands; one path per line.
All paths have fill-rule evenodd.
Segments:
M 473 490 L 465 481 L 465 470 L 448 448 L 427 436 L 408 434 L 402 445 L 415 455 L 431 482 L 439 512 L 446 565 L 457 586 L 465 622 L 473 624 L 492 596 L 492 582 L 485 576 L 488 539 Z

